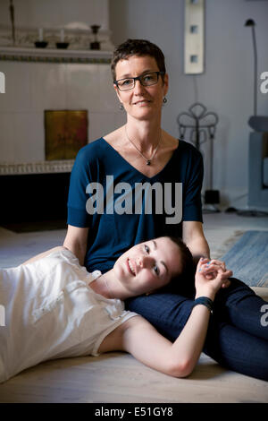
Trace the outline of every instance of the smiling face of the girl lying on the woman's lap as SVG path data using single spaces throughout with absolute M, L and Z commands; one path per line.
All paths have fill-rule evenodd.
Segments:
M 113 271 L 130 296 L 138 296 L 162 288 L 180 268 L 178 245 L 163 236 L 131 247 L 115 262 Z

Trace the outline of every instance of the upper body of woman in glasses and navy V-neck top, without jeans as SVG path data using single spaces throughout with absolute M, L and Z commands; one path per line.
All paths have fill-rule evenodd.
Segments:
M 157 236 L 182 237 L 194 257 L 209 257 L 202 156 L 161 128 L 168 90 L 163 53 L 129 40 L 115 50 L 112 73 L 127 124 L 78 153 L 64 245 L 89 271 L 111 269 L 130 245 Z

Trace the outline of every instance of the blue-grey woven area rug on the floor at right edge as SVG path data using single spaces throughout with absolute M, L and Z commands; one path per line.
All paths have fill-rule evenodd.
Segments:
M 268 287 L 268 231 L 247 231 L 221 259 L 248 286 Z

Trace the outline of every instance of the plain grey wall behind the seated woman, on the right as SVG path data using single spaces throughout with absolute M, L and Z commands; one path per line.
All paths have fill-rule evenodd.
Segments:
M 248 117 L 253 114 L 253 46 L 251 29 L 256 22 L 258 74 L 268 71 L 268 2 L 206 0 L 205 73 L 183 74 L 183 0 L 110 0 L 113 43 L 127 38 L 150 39 L 163 49 L 170 75 L 163 129 L 179 136 L 176 118 L 201 101 L 219 115 L 214 142 L 214 188 L 222 204 L 247 204 Z M 259 83 L 260 84 L 260 83 Z M 268 114 L 268 94 L 258 92 L 258 115 Z M 203 145 L 205 168 L 208 144 Z M 205 184 L 207 184 L 207 173 Z

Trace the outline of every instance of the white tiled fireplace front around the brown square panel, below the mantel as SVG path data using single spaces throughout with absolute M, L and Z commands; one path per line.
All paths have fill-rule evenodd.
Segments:
M 45 159 L 45 109 L 88 109 L 88 141 L 123 123 L 109 64 L 2 62 L 0 161 Z

